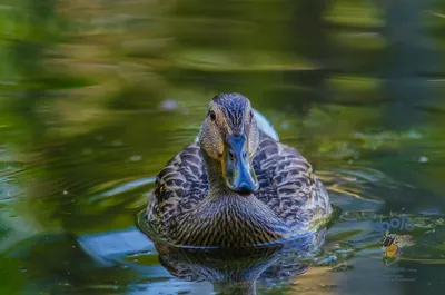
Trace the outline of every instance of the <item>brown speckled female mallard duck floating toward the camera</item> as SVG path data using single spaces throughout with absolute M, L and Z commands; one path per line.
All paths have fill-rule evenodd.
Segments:
M 258 129 L 246 97 L 222 94 L 157 176 L 144 222 L 169 244 L 241 247 L 307 233 L 330 213 L 310 164 Z

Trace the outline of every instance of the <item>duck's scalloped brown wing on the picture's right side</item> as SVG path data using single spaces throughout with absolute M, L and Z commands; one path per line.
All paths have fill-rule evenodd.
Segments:
M 256 197 L 286 224 L 304 229 L 332 212 L 325 187 L 294 148 L 261 134 L 254 168 L 259 181 Z

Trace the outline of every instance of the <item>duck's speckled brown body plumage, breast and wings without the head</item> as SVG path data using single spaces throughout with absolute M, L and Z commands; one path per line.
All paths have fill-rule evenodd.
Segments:
M 304 157 L 261 131 L 257 144 L 259 190 L 250 196 L 209 195 L 209 157 L 198 140 L 182 149 L 157 176 L 149 232 L 176 245 L 240 247 L 289 238 L 330 214 L 328 195 Z

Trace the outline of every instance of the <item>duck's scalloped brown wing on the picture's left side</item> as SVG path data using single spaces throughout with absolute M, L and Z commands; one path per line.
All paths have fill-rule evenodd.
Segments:
M 169 218 L 181 215 L 205 198 L 207 173 L 197 141 L 184 148 L 159 171 L 146 218 L 154 227 L 162 227 Z

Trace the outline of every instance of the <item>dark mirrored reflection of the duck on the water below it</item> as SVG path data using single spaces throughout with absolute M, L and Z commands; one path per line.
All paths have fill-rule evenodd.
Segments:
M 326 229 L 293 240 L 240 249 L 178 248 L 155 243 L 160 264 L 184 281 L 208 281 L 217 294 L 256 294 L 256 282 L 283 281 L 304 274 L 305 259 L 325 240 Z

